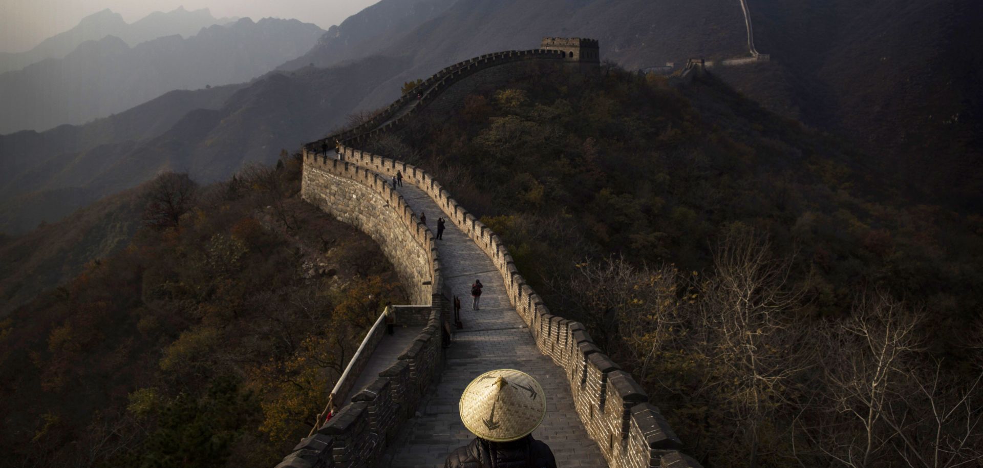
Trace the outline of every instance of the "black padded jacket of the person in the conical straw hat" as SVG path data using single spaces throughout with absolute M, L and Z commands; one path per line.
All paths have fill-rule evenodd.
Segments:
M 526 436 L 509 442 L 475 438 L 447 456 L 444 468 L 556 468 L 546 443 Z

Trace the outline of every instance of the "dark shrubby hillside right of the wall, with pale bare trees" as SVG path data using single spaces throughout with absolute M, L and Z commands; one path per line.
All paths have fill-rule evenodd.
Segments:
M 552 313 L 644 382 L 687 453 L 708 467 L 983 453 L 983 218 L 910 204 L 865 154 L 713 75 L 534 76 L 367 149 L 432 171 L 481 216 Z

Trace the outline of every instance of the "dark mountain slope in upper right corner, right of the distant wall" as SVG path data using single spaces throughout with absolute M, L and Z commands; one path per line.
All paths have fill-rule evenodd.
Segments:
M 918 197 L 983 204 L 983 4 L 751 2 L 766 73 L 723 76 L 846 136 Z M 752 67 L 757 68 L 757 67 Z M 733 79 L 731 79 L 733 78 Z

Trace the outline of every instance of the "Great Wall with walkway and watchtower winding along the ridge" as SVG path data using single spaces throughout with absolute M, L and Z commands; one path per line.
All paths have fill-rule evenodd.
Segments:
M 532 374 L 548 392 L 547 417 L 533 436 L 549 443 L 558 466 L 700 466 L 679 451 L 659 408 L 585 326 L 549 311 L 491 229 L 426 171 L 358 149 L 429 107 L 453 105 L 471 89 L 530 73 L 535 69 L 521 65 L 530 61 L 596 69 L 598 42 L 549 37 L 540 49 L 455 64 L 369 122 L 304 146 L 304 199 L 372 236 L 414 304 L 389 307 L 379 317 L 331 391 L 333 417 L 326 423 L 320 417 L 278 468 L 439 468 L 451 449 L 473 438 L 457 414 L 464 385 L 505 367 Z M 700 65 L 690 61 L 686 74 Z M 397 171 L 404 186 L 394 188 L 387 182 Z M 450 221 L 442 239 L 421 222 L 424 211 L 431 225 L 437 216 Z M 486 283 L 482 310 L 465 307 L 465 326 L 455 330 L 450 298 L 466 297 L 476 277 Z M 385 324 L 399 332 L 386 333 Z M 448 348 L 441 346 L 443 330 L 453 333 Z

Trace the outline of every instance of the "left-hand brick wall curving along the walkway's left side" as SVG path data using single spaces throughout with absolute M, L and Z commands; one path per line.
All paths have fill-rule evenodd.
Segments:
M 440 329 L 448 301 L 440 293 L 443 280 L 434 233 L 381 177 L 354 164 L 305 151 L 301 192 L 309 203 L 376 240 L 413 302 L 424 305 L 391 306 L 394 322 L 426 326 L 395 364 L 350 402 L 338 402 L 331 420 L 302 439 L 277 468 L 376 466 L 381 448 L 414 415 L 443 368 Z M 348 394 L 384 329 L 370 330 L 364 340 L 367 352 L 353 357 L 352 376 L 342 382 L 339 395 Z

